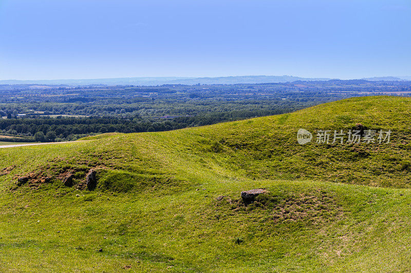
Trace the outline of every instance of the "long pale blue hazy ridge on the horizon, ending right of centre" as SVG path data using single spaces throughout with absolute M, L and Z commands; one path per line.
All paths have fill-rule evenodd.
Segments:
M 101 79 L 56 79 L 56 80 L 0 80 L 0 85 L 213 85 L 235 83 L 287 82 L 296 80 L 329 80 L 329 78 L 302 78 L 295 76 L 230 76 L 230 77 L 135 77 L 135 78 L 101 78 Z

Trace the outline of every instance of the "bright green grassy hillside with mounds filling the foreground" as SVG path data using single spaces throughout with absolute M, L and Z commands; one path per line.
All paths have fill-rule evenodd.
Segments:
M 0 271 L 406 271 L 410 111 L 408 98 L 351 98 L 208 127 L 0 149 Z M 356 123 L 390 129 L 391 142 L 296 141 L 300 128 Z M 73 186 L 62 181 L 69 173 Z M 252 188 L 269 193 L 245 206 L 240 192 Z

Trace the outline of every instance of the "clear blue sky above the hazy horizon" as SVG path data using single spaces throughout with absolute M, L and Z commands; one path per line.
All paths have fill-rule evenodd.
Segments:
M 411 1 L 0 0 L 0 79 L 411 75 Z

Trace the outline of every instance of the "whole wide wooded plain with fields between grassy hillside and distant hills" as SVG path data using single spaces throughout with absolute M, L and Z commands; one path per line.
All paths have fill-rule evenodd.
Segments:
M 75 140 L 282 114 L 352 96 L 407 96 L 409 81 L 330 80 L 241 85 L 0 86 L 0 141 Z

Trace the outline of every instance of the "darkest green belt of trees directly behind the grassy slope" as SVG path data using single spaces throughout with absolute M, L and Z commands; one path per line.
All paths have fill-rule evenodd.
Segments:
M 159 132 L 210 125 L 217 122 L 245 119 L 257 116 L 282 114 L 289 109 L 242 110 L 221 113 L 208 113 L 201 116 L 176 117 L 173 119 L 142 119 L 121 117 L 58 117 L 58 118 L 11 118 L 0 120 L 3 135 L 16 138 L 0 141 L 69 141 L 87 135 L 101 133 L 140 133 Z

